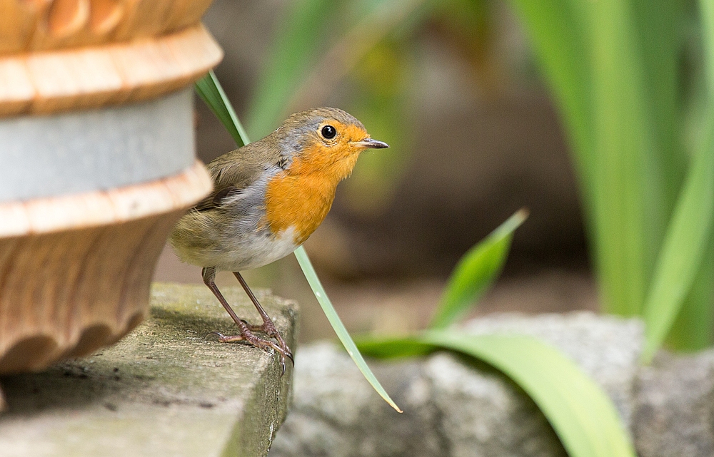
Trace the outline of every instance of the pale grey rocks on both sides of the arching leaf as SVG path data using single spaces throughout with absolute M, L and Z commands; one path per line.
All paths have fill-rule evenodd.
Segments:
M 465 328 L 531 334 L 561 347 L 631 416 L 639 322 L 592 313 L 509 314 L 476 319 Z M 371 366 L 403 414 L 391 410 L 333 344 L 299 349 L 293 408 L 270 455 L 565 456 L 533 401 L 486 365 L 436 353 Z

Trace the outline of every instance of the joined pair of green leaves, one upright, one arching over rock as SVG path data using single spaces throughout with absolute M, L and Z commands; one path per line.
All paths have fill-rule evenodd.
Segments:
M 446 284 L 429 329 L 409 337 L 358 339 L 358 348 L 381 358 L 447 349 L 484 361 L 531 396 L 569 456 L 634 457 L 612 401 L 560 350 L 524 335 L 478 335 L 455 327 L 501 272 L 513 232 L 526 217 L 525 210 L 516 212 L 466 252 Z

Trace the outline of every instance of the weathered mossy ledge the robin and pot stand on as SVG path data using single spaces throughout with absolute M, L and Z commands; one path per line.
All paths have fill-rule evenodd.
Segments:
M 239 287 L 223 293 L 260 322 Z M 295 349 L 297 307 L 258 292 Z M 292 366 L 206 339 L 235 327 L 203 286 L 154 284 L 151 317 L 109 349 L 0 378 L 0 453 L 14 456 L 264 456 L 285 419 Z

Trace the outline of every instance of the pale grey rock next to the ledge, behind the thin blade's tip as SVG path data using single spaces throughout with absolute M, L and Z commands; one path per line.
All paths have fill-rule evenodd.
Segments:
M 418 364 L 374 367 L 406 411 L 398 414 L 334 344 L 301 347 L 295 362 L 296 395 L 270 456 L 441 455 L 438 411 Z

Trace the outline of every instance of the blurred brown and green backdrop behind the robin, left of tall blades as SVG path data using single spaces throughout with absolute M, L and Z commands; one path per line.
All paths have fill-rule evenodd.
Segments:
M 216 0 L 203 22 L 251 139 L 335 106 L 391 145 L 361 156 L 305 245 L 351 332 L 423 327 L 459 257 L 520 207 L 531 217 L 476 314 L 598 309 L 565 135 L 508 4 Z M 234 148 L 198 99 L 196 131 L 205 162 Z M 300 303 L 303 342 L 333 337 L 293 256 L 245 275 Z M 155 280 L 201 283 L 200 268 L 167 247 Z

